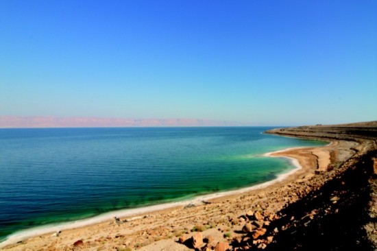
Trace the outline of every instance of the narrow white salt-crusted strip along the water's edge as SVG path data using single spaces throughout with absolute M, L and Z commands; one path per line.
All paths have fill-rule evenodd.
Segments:
M 332 142 L 330 142 L 330 144 L 331 143 Z M 167 202 L 167 203 L 156 204 L 156 205 L 151 205 L 151 206 L 143 206 L 140 208 L 121 209 L 119 211 L 110 211 L 108 213 L 103 213 L 101 215 L 96 215 L 96 216 L 89 217 L 86 219 L 79 219 L 79 220 L 71 221 L 71 222 L 61 222 L 58 224 L 47 224 L 47 225 L 42 225 L 42 226 L 36 226 L 34 228 L 20 230 L 18 232 L 14 232 L 11 235 L 8 235 L 8 237 L 5 237 L 5 239 L 2 242 L 0 242 L 0 248 L 5 248 L 7 246 L 11 246 L 21 241 L 25 241 L 27 239 L 40 236 L 40 235 L 49 235 L 53 232 L 58 232 L 58 231 L 63 231 L 63 230 L 74 230 L 77 228 L 84 228 L 84 227 L 92 226 L 95 224 L 110 222 L 114 219 L 114 217 L 138 218 L 136 217 L 138 215 L 145 215 L 147 213 L 157 213 L 159 211 L 165 211 L 165 210 L 169 210 L 176 207 L 183 207 L 190 204 L 193 204 L 193 205 L 200 204 L 202 202 L 206 202 L 207 200 L 216 200 L 216 199 L 226 198 L 232 195 L 240 195 L 242 193 L 248 193 L 250 191 L 254 191 L 258 189 L 265 189 L 273 184 L 286 180 L 287 178 L 289 178 L 289 176 L 292 176 L 293 174 L 295 174 L 295 172 L 299 171 L 300 169 L 303 169 L 302 165 L 300 165 L 300 162 L 297 158 L 293 158 L 289 156 L 273 155 L 273 154 L 280 154 L 282 152 L 287 152 L 290 150 L 299 150 L 299 149 L 306 149 L 306 148 L 311 148 L 311 147 L 289 147 L 287 149 L 278 150 L 275 152 L 267 152 L 265 154 L 262 154 L 262 156 L 265 156 L 265 157 L 287 158 L 290 160 L 289 162 L 291 163 L 291 165 L 295 167 L 291 170 L 278 174 L 276 178 L 274 178 L 273 180 L 269 180 L 260 184 L 254 184 L 251 187 L 243 187 L 241 189 L 221 191 L 217 193 L 208 193 L 206 195 L 199 195 L 189 200 L 182 200 L 178 202 Z M 132 221 L 134 218 L 130 220 Z

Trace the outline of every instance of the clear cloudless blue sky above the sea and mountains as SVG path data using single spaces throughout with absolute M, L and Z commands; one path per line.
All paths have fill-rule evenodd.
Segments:
M 377 1 L 0 0 L 0 116 L 377 120 Z

